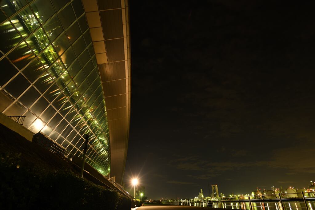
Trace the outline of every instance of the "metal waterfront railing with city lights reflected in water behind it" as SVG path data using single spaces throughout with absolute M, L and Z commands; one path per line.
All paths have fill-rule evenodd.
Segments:
M 315 192 L 298 192 L 259 196 L 215 198 L 209 200 L 186 199 L 167 201 L 177 206 L 228 208 L 243 210 L 315 210 Z

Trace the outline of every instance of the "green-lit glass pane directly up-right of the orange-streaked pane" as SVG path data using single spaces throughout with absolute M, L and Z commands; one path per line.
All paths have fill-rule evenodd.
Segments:
M 33 53 L 36 55 L 40 53 L 47 45 L 49 45 L 49 40 L 42 28 L 39 28 L 30 37 L 28 37 L 26 42 L 28 45 L 30 45 Z

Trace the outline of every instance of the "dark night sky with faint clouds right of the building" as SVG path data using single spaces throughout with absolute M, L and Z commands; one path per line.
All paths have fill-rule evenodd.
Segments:
M 130 1 L 125 186 L 193 198 L 315 179 L 315 3 Z

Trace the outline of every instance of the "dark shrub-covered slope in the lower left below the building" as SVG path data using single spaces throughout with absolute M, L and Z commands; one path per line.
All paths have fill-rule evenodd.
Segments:
M 71 162 L 0 124 L 2 209 L 130 209 L 113 190 L 78 177 Z

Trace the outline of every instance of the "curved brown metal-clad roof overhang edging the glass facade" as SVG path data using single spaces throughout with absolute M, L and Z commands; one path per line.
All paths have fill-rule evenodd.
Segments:
M 121 183 L 130 121 L 130 37 L 127 0 L 82 0 L 105 96 L 111 174 Z

